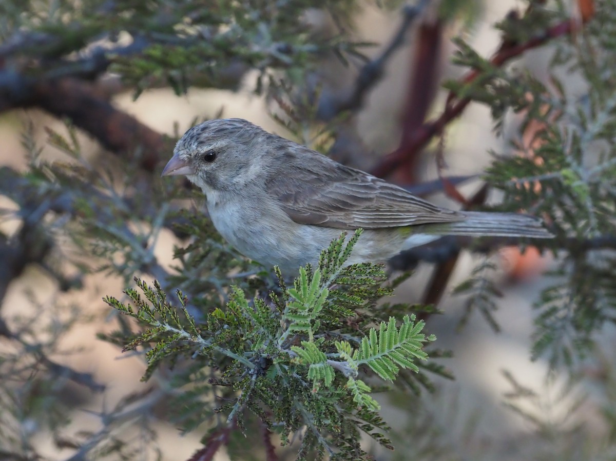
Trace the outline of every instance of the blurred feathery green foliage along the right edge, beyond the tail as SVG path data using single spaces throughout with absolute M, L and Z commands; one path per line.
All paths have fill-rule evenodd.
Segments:
M 597 4 L 601 14 L 576 36 L 575 46 L 556 45 L 549 78 L 517 66 L 496 67 L 459 40 L 456 62 L 482 70 L 485 77 L 468 86 L 448 84 L 488 105 L 497 130 L 506 114 L 521 116 L 519 138 L 511 142 L 515 154 L 494 153 L 485 178 L 505 192 L 501 209 L 540 215 L 562 242 L 554 285 L 535 305 L 533 332 L 533 358 L 546 357 L 553 366 L 572 367 L 582 360 L 593 337 L 614 322 L 616 307 L 616 4 Z M 561 14 L 535 7 L 498 26 L 506 39 L 520 44 L 545 34 L 546 24 Z M 584 79 L 585 92 L 570 94 L 559 77 L 566 73 Z M 599 249 L 604 246 L 609 248 Z

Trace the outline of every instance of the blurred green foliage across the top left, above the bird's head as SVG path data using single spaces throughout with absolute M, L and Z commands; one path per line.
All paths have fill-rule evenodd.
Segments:
M 152 86 L 236 88 L 249 69 L 262 78 L 284 70 L 298 78 L 323 52 L 358 54 L 362 44 L 312 33 L 308 15 L 325 9 L 344 22 L 354 0 L 270 2 L 250 0 L 123 0 L 2 2 L 0 54 L 34 78 L 75 73 L 97 76 L 108 68 L 134 94 Z

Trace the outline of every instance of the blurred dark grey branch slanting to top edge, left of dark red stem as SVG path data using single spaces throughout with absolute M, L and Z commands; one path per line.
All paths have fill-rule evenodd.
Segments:
M 402 9 L 402 24 L 392 37 L 389 45 L 385 47 L 383 52 L 363 65 L 359 71 L 359 75 L 355 79 L 354 89 L 348 97 L 344 99 L 326 98 L 320 100 L 318 105 L 318 116 L 325 121 L 333 119 L 339 113 L 352 110 L 356 111 L 362 108 L 368 92 L 379 82 L 385 70 L 387 62 L 392 57 L 394 52 L 399 49 L 404 43 L 405 36 L 415 19 L 421 15 L 430 0 L 420 0 L 416 6 L 407 5 Z

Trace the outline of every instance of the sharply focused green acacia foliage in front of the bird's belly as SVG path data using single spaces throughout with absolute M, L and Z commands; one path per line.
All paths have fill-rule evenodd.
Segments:
M 379 404 L 360 375 L 370 369 L 393 382 L 400 368 L 418 372 L 415 361 L 428 358 L 424 343 L 436 339 L 421 332 L 423 321 L 408 315 L 400 327 L 394 317 L 382 321 L 378 332 L 368 325 L 339 323 L 336 329 L 322 328 L 332 318 L 342 320 L 338 316 L 343 308 L 349 323 L 358 318 L 354 309 L 375 307 L 360 297 L 342 302 L 339 294 L 346 291 L 345 286 L 383 294 L 380 266 L 344 267 L 360 234 L 357 231 L 346 244 L 344 235 L 334 240 L 323 251 L 320 267 L 301 268 L 293 287 L 281 282 L 281 291 L 272 292 L 269 300 L 248 300 L 243 290 L 233 288 L 227 305 L 208 312 L 203 323 L 188 313 L 188 299 L 182 292 L 177 292 L 176 307 L 157 282 L 150 287 L 136 279 L 139 291 L 126 291 L 131 302 L 114 297 L 105 297 L 105 302 L 144 325 L 123 349 L 145 347 L 144 379 L 163 359 L 176 365 L 189 359 L 191 375 L 208 367 L 217 370 L 211 372 L 210 381 L 224 382 L 229 403 L 218 407 L 216 401 L 203 401 L 199 395 L 192 403 L 183 397 L 188 413 L 197 404 L 209 406 L 210 414 L 224 414 L 227 425 L 240 427 L 246 426 L 246 419 L 257 417 L 280 434 L 283 444 L 291 434 L 304 433 L 302 452 L 325 451 L 336 459 L 358 459 L 366 455 L 359 445 L 360 431 L 385 446 L 390 444 L 381 433 L 386 427 L 378 417 Z M 322 277 L 322 271 L 328 278 Z M 336 289 L 330 291 L 331 287 Z M 190 378 L 179 382 L 182 389 Z M 181 411 L 178 417 L 183 419 Z M 203 422 L 207 420 L 204 417 Z M 339 444 L 340 437 L 346 443 Z

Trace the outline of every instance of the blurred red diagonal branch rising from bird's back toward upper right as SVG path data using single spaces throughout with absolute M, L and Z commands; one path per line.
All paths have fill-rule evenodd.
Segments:
M 493 66 L 502 66 L 514 57 L 518 57 L 527 50 L 542 46 L 551 39 L 565 36 L 579 29 L 580 25 L 573 20 L 565 20 L 545 31 L 545 33 L 530 39 L 527 42 L 516 44 L 515 42 L 503 41 L 498 51 L 490 59 Z M 465 83 L 475 81 L 481 75 L 479 70 L 472 70 L 463 77 Z M 386 177 L 395 169 L 406 165 L 415 159 L 418 152 L 423 149 L 433 137 L 441 135 L 447 124 L 460 116 L 471 98 L 458 98 L 453 92 L 447 97 L 445 109 L 440 116 L 432 121 L 426 121 L 412 131 L 405 132 L 400 146 L 391 154 L 384 157 L 371 171 L 378 177 Z

